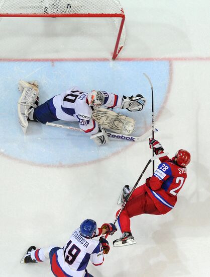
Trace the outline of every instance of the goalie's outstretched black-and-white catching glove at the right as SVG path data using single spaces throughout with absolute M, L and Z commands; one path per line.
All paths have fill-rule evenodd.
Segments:
M 121 109 L 127 109 L 130 112 L 141 111 L 145 105 L 145 98 L 141 94 L 137 96 L 123 96 Z

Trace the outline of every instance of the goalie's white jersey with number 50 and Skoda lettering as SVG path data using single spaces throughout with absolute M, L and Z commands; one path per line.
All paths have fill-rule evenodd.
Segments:
M 116 94 L 103 92 L 103 106 L 119 108 L 122 97 Z M 86 133 L 95 134 L 98 132 L 98 125 L 91 118 L 92 109 L 87 103 L 88 92 L 81 91 L 78 87 L 53 97 L 53 105 L 56 109 L 56 117 L 65 121 L 79 121 L 79 127 Z

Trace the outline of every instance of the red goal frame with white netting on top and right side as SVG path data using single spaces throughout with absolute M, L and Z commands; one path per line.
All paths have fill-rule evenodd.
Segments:
M 0 0 L 1 17 L 111 18 L 118 31 L 113 59 L 126 39 L 125 14 L 118 0 Z

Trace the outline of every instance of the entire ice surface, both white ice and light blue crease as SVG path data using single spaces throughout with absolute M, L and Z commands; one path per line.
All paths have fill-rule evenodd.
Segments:
M 77 137 L 68 130 L 36 123 L 29 125 L 29 133 L 24 137 L 16 109 L 19 78 L 38 79 L 41 101 L 68 88 L 69 78 L 80 82 L 77 85 L 87 90 L 95 86 L 96 89 L 116 90 L 119 94 L 127 91 L 135 94 L 139 88 L 149 98 L 150 88 L 142 77 L 143 71 L 154 82 L 155 125 L 159 129 L 156 137 L 171 156 L 180 148 L 190 151 L 188 178 L 172 212 L 164 216 L 133 218 L 131 227 L 137 244 L 124 248 L 111 246 L 104 264 L 98 267 L 89 264 L 88 271 L 96 277 L 209 275 L 209 3 L 206 0 L 201 4 L 179 0 L 121 2 L 126 13 L 127 40 L 120 55 L 124 60 L 117 62 L 94 59 L 110 57 L 113 50 L 108 41 L 100 45 L 97 37 L 91 36 L 84 51 L 82 47 L 67 44 L 66 36 L 59 37 L 52 27 L 60 44 L 52 45 L 52 37 L 46 34 L 50 49 L 53 48 L 49 53 L 47 47 L 38 46 L 39 43 L 28 46 L 30 35 L 26 37 L 20 30 L 21 20 L 7 19 L 7 29 L 1 28 L 5 19 L 0 23 L 1 58 L 4 58 L 0 64 L 0 275 L 3 277 L 52 276 L 48 262 L 20 264 L 28 246 L 62 247 L 86 218 L 96 220 L 98 225 L 112 222 L 121 188 L 136 182 L 151 155 L 147 142 L 112 141 L 109 147 L 98 149 L 88 138 L 81 138 L 81 134 Z M 32 30 L 32 41 L 36 42 L 38 31 L 46 27 L 44 24 L 40 21 Z M 44 33 L 45 30 L 42 36 Z M 75 40 L 77 33 L 74 30 Z M 82 37 L 77 39 L 84 43 Z M 5 40 L 9 42 L 8 47 L 3 46 Z M 27 59 L 59 59 L 65 52 L 69 59 L 90 60 L 86 65 L 84 61 L 79 65 L 70 60 L 22 60 L 24 56 Z M 10 58 L 20 60 L 9 61 Z M 137 61 L 128 61 L 128 58 Z M 164 64 L 162 67 L 160 60 Z M 143 114 L 145 120 L 138 121 L 138 128 L 141 124 L 145 129 L 149 127 L 150 103 L 148 99 Z M 62 147 L 59 144 L 63 138 Z M 54 149 L 53 145 L 60 148 Z M 34 157 L 37 153 L 37 162 L 30 152 Z M 65 163 L 60 159 L 62 153 L 68 157 Z M 83 162 L 79 159 L 82 156 L 87 158 Z M 71 163 L 72 159 L 77 162 Z M 149 168 L 143 179 L 151 172 Z M 120 231 L 110 237 L 110 244 L 119 236 Z

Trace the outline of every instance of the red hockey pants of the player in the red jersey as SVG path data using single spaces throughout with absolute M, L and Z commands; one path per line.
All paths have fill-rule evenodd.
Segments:
M 146 192 L 145 186 L 146 184 L 134 190 L 128 203 L 125 205 L 123 212 L 118 218 L 118 223 L 122 233 L 131 232 L 130 218 L 132 217 L 142 214 L 162 215 L 162 213 L 158 211 L 154 202 Z M 119 211 L 116 213 L 116 216 Z

